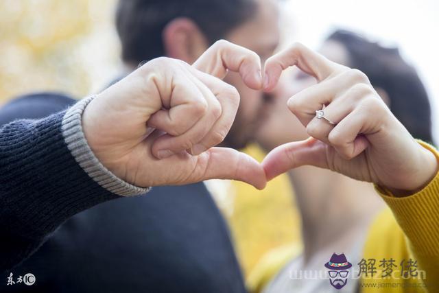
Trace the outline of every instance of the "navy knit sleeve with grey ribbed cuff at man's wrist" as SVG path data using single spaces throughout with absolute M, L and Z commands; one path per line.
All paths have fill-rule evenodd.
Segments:
M 91 152 L 81 127 L 90 100 L 0 128 L 0 232 L 42 239 L 96 204 L 147 191 L 111 174 Z

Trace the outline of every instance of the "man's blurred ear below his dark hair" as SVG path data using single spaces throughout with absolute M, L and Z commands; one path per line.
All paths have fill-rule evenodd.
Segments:
M 194 21 L 180 17 L 163 30 L 163 46 L 166 56 L 192 64 L 206 51 L 208 42 Z

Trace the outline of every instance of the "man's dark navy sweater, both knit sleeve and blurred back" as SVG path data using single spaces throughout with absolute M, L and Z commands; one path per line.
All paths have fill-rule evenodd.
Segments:
M 0 292 L 245 292 L 204 184 L 123 198 L 142 189 L 96 178 L 67 116 L 0 129 Z M 36 283 L 17 283 L 27 273 Z

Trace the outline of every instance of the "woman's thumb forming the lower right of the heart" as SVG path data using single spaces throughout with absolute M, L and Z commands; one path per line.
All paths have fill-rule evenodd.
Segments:
M 263 159 L 262 166 L 267 180 L 302 165 L 327 168 L 325 148 L 322 141 L 312 137 L 305 141 L 279 145 Z

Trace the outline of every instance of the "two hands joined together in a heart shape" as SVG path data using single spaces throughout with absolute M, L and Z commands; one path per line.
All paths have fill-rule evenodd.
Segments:
M 288 102 L 311 138 L 281 145 L 262 164 L 237 150 L 216 148 L 239 106 L 237 90 L 221 80 L 227 71 L 239 72 L 252 89 L 271 91 L 290 66 L 318 80 Z M 327 120 L 316 118 L 323 106 L 320 117 Z M 415 190 L 437 168 L 433 154 L 390 113 L 366 75 L 300 44 L 269 58 L 263 76 L 257 54 L 224 40 L 192 66 L 170 58 L 152 60 L 97 95 L 82 123 L 99 161 L 141 187 L 227 178 L 262 189 L 267 179 L 288 169 L 315 165 Z

